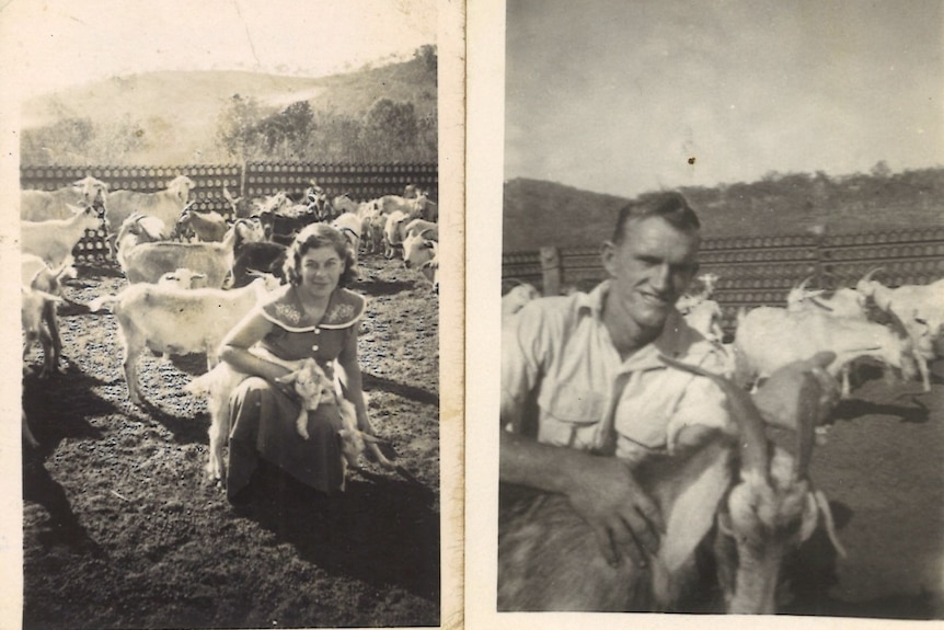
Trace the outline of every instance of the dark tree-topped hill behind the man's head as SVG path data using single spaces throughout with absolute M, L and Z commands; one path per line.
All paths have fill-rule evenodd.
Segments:
M 706 238 L 944 227 L 944 168 L 833 179 L 799 173 L 681 192 Z M 505 183 L 503 250 L 598 244 L 609 238 L 629 201 L 554 182 L 510 180 Z

